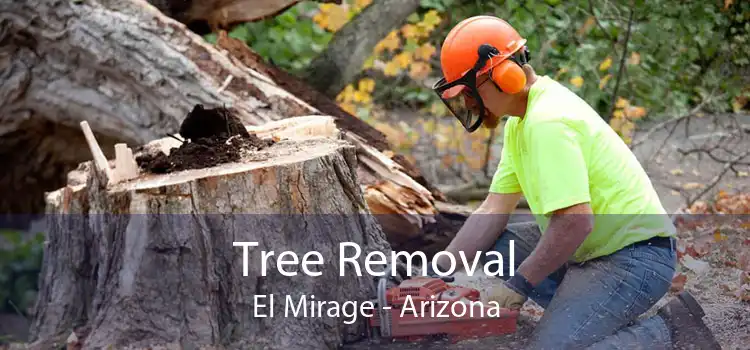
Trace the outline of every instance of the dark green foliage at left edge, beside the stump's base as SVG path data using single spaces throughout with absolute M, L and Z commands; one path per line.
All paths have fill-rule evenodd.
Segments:
M 36 299 L 44 234 L 25 240 L 23 235 L 0 231 L 0 312 L 25 314 Z

